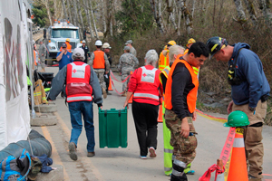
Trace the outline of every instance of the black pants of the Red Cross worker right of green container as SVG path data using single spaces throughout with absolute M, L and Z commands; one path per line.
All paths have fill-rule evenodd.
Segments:
M 141 156 L 147 156 L 148 148 L 157 148 L 158 111 L 159 105 L 132 102 L 132 115 Z

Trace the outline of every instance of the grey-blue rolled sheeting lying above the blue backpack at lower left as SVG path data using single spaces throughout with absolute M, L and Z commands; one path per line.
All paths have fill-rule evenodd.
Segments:
M 24 148 L 30 155 L 34 155 L 36 157 L 40 157 L 44 154 L 46 154 L 47 157 L 50 157 L 52 154 L 50 142 L 40 133 L 32 129 L 29 133 L 29 140 L 21 140 L 16 143 L 11 143 L 6 148 L 2 149 L 0 151 L 0 161 L 8 156 L 20 157 Z

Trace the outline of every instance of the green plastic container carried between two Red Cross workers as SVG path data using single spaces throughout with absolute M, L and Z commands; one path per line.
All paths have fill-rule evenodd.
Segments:
M 100 148 L 127 148 L 128 121 L 127 108 L 124 110 L 99 109 Z

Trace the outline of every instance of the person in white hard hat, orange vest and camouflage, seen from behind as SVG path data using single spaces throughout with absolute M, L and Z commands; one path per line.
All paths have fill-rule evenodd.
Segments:
M 95 42 L 96 51 L 92 52 L 89 64 L 98 76 L 100 86 L 103 93 L 103 98 L 107 98 L 106 83 L 104 81 L 104 74 L 110 71 L 110 63 L 105 52 L 102 52 L 102 42 L 97 40 Z

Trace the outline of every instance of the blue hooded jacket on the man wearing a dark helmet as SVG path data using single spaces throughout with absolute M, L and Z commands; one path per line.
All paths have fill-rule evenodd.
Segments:
M 269 95 L 270 87 L 263 70 L 263 64 L 257 54 L 249 50 L 247 43 L 236 43 L 232 57 L 228 64 L 232 64 L 237 58 L 237 76 L 242 80 L 239 85 L 231 86 L 232 100 L 236 105 L 249 104 L 249 107 L 257 107 L 257 101 L 264 95 Z

